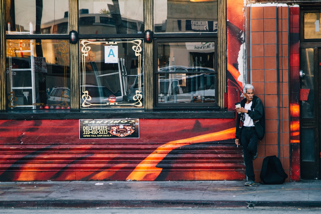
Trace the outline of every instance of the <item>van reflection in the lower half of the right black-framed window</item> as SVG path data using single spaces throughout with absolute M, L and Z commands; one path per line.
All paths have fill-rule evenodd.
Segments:
M 159 103 L 215 102 L 215 74 L 175 74 L 158 81 Z

